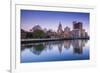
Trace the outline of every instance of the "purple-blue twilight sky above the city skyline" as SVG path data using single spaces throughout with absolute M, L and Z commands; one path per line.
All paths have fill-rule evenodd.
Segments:
M 82 12 L 61 12 L 61 11 L 40 11 L 21 10 L 21 28 L 29 31 L 35 25 L 40 25 L 43 29 L 57 31 L 59 22 L 63 29 L 68 26 L 73 27 L 73 21 L 82 22 L 83 28 L 89 33 L 89 13 Z

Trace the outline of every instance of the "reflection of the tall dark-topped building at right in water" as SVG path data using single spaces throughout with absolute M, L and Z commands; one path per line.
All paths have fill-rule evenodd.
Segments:
M 77 54 L 82 54 L 83 47 L 85 46 L 85 42 L 82 40 L 73 40 L 72 41 L 73 52 Z

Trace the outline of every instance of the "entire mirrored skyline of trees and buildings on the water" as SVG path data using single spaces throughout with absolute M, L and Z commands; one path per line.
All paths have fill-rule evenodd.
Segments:
M 61 54 L 64 49 L 69 49 L 73 47 L 73 52 L 77 54 L 82 54 L 83 47 L 88 40 L 64 40 L 64 41 L 49 41 L 49 42 L 39 42 L 31 44 L 22 44 L 21 51 L 24 49 L 29 49 L 35 55 L 41 55 L 42 52 L 51 51 L 57 49 Z M 66 50 L 67 51 L 67 50 Z

